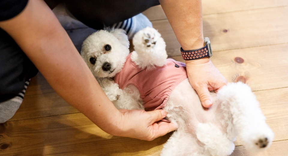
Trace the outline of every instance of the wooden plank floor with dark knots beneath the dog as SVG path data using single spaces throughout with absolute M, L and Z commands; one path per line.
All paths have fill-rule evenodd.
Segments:
M 212 62 L 228 82 L 242 81 L 252 88 L 275 133 L 272 146 L 259 154 L 247 152 L 236 140 L 232 156 L 287 156 L 288 1 L 202 3 L 204 37 L 211 41 Z M 144 14 L 162 34 L 169 56 L 183 61 L 161 6 Z M 169 136 L 150 142 L 111 136 L 62 100 L 39 73 L 15 116 L 0 124 L 0 155 L 158 156 Z

